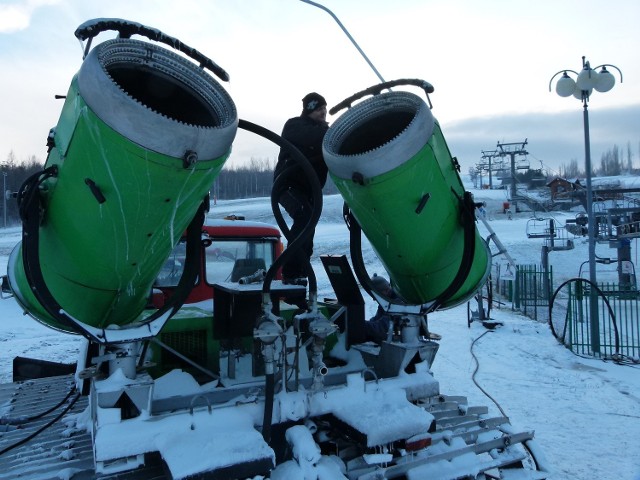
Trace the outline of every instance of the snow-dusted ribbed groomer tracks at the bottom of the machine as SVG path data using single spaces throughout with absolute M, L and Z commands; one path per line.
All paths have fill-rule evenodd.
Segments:
M 0 385 L 0 479 L 172 478 L 157 453 L 146 455 L 145 465 L 136 470 L 96 475 L 91 434 L 85 428 L 87 397 L 72 392 L 73 385 L 71 376 Z M 44 406 L 56 404 L 58 408 L 35 418 Z M 437 395 L 417 404 L 434 418 L 429 433 L 404 445 L 375 447 L 354 459 L 343 458 L 347 478 L 546 478 L 544 471 L 533 470 L 532 457 L 524 448 L 534 448 L 533 432 L 514 431 L 508 418 L 491 417 L 487 407 L 469 406 L 465 397 Z M 326 421 L 333 423 L 335 419 Z M 335 440 L 346 444 L 361 440 L 351 438 L 357 436 L 358 432 L 344 431 L 342 438 Z M 344 446 L 339 449 L 345 451 Z M 210 472 L 198 478 L 232 477 Z

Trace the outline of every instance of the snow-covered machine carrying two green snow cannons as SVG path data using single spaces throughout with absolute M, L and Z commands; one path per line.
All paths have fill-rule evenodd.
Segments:
M 118 38 L 90 50 L 105 30 Z M 427 314 L 473 296 L 490 266 L 473 199 L 430 106 L 390 90 L 417 86 L 428 99 L 431 85 L 383 83 L 332 110 L 349 107 L 323 149 L 345 200 L 353 263 L 344 255 L 322 259 L 336 300 L 318 300 L 313 271 L 308 292 L 277 280 L 299 244 L 289 238 L 281 255 L 260 258 L 262 268 L 250 255 L 224 257 L 235 260 L 233 271 L 254 270 L 212 285 L 213 301 L 189 304 L 194 285 L 206 280 L 203 265 L 210 268 L 203 252 L 215 244 L 203 227 L 208 190 L 237 128 L 290 148 L 303 170 L 311 167 L 278 135 L 239 120 L 205 71 L 224 80 L 224 70 L 179 40 L 119 19 L 86 22 L 76 36 L 88 40 L 86 58 L 50 134 L 45 169 L 19 192 L 23 241 L 7 277 L 27 313 L 87 339 L 74 382 L 83 396 L 67 421 L 91 441 L 88 450 L 65 442 L 67 454 L 37 478 L 63 478 L 63 468 L 64 478 L 104 479 L 546 478 L 535 469 L 532 432 L 441 394 L 430 371 L 438 344 Z M 301 236 L 319 215 L 317 208 Z M 176 260 L 185 231 L 186 254 Z M 362 234 L 393 295 L 367 273 Z M 167 262 L 182 276 L 150 309 Z M 391 319 L 378 343 L 363 334 L 353 272 Z M 291 297 L 307 307 L 282 301 Z M 153 355 L 167 347 L 167 330 L 204 345 L 204 364 L 195 366 L 206 382 L 186 369 L 163 371 Z M 170 351 L 194 365 L 192 345 Z M 0 452 L 12 450 L 2 441 Z M 0 468 L 10 472 L 5 459 L 0 454 Z

